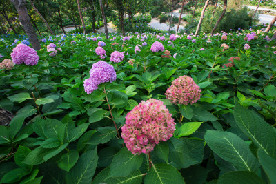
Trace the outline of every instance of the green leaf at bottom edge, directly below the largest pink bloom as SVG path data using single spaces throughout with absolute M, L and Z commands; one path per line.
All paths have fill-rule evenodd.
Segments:
M 148 174 L 146 174 L 144 184 L 172 184 L 185 183 L 184 178 L 172 165 L 157 163 L 152 165 Z

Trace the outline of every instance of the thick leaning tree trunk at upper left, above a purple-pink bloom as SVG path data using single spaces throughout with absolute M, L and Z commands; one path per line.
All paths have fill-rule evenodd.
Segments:
M 37 39 L 37 34 L 32 27 L 32 23 L 30 22 L 30 17 L 28 16 L 26 0 L 10 0 L 15 8 L 17 9 L 19 15 L 19 21 L 23 25 L 23 28 L 30 39 L 30 43 L 32 43 L 32 47 L 35 50 L 40 50 L 41 45 L 39 43 L 39 39 Z

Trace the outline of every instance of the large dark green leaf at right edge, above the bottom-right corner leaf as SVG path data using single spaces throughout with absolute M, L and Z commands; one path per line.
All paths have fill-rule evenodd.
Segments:
M 257 113 L 235 103 L 234 117 L 239 129 L 273 158 L 276 158 L 276 132 Z

